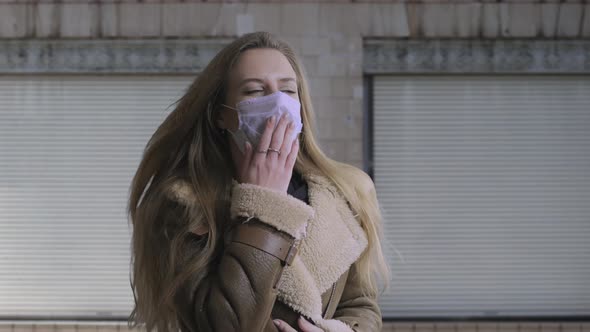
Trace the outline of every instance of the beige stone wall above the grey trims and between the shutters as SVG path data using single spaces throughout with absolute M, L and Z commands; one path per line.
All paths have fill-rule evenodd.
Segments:
M 0 38 L 235 37 L 266 30 L 306 66 L 326 153 L 362 166 L 363 38 L 590 37 L 582 1 L 0 1 Z

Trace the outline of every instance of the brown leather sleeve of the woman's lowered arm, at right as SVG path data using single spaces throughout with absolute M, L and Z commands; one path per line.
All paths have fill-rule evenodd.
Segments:
M 346 323 L 354 331 L 381 331 L 383 323 L 377 297 L 363 294 L 356 264 L 350 267 L 350 274 L 333 319 Z

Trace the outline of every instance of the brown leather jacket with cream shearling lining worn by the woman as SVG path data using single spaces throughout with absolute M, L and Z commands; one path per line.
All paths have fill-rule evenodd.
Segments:
M 275 318 L 298 329 L 299 316 L 324 331 L 381 330 L 376 298 L 363 295 L 356 273 L 364 231 L 327 178 L 302 175 L 309 204 L 234 181 L 231 216 L 241 222 L 226 235 L 209 276 L 178 298 L 183 331 L 277 331 Z M 187 182 L 169 193 L 196 210 Z

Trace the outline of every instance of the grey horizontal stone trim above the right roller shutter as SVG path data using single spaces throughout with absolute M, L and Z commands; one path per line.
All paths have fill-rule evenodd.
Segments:
M 366 39 L 366 74 L 584 74 L 590 40 Z

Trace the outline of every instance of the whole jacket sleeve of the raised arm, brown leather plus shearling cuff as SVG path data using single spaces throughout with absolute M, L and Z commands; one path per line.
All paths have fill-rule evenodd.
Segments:
M 231 209 L 234 221 L 247 221 L 248 227 L 263 231 L 264 236 L 292 243 L 303 235 L 313 214 L 311 207 L 286 193 L 237 183 Z M 271 311 L 284 262 L 256 246 L 232 241 L 231 233 L 226 239 L 207 277 L 189 282 L 183 288 L 185 294 L 178 297 L 183 329 L 277 331 Z

